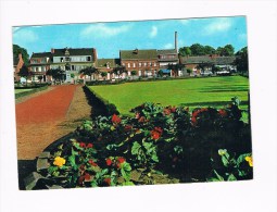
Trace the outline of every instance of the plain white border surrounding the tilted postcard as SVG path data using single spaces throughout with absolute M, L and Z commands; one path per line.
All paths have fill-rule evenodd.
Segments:
M 276 211 L 275 1 L 1 1 L 0 211 Z M 254 180 L 20 191 L 13 98 L 16 25 L 247 15 Z

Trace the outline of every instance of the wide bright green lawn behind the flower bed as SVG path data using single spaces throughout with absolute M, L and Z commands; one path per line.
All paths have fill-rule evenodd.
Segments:
M 110 86 L 90 86 L 91 90 L 114 103 L 122 114 L 143 103 L 162 105 L 184 104 L 190 109 L 201 107 L 223 107 L 237 96 L 241 108 L 248 108 L 249 79 L 241 76 L 189 78 L 126 83 Z

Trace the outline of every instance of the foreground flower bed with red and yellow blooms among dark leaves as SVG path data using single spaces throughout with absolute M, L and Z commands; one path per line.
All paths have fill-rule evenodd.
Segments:
M 98 116 L 50 148 L 47 185 L 62 188 L 252 178 L 250 125 L 227 107 L 143 103 L 134 116 Z

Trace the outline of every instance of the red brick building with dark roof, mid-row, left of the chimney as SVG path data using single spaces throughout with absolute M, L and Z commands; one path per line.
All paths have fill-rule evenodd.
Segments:
M 131 76 L 131 71 L 136 71 L 137 76 L 152 77 L 160 68 L 156 49 L 121 50 L 119 57 L 121 65 L 127 70 L 127 73 L 123 74 L 123 78 Z

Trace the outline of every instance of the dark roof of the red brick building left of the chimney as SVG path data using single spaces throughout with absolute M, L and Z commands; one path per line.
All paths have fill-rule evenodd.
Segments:
M 135 50 L 121 50 L 119 52 L 122 60 L 149 60 L 158 59 L 156 49 L 135 49 Z

